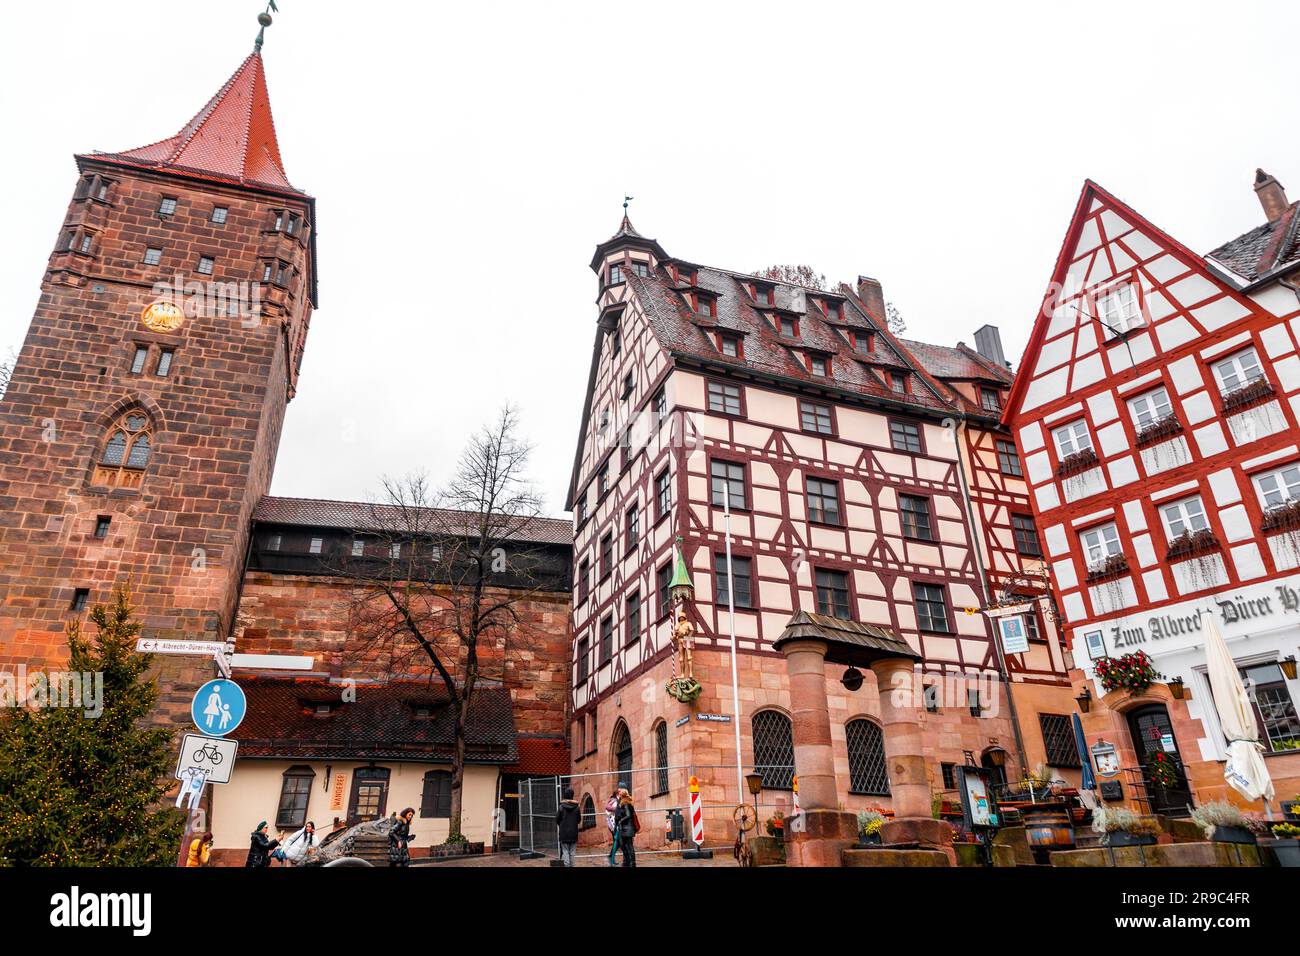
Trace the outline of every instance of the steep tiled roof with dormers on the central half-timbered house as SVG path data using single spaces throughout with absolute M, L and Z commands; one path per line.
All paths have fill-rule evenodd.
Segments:
M 629 276 L 637 299 L 645 306 L 651 328 L 659 343 L 677 356 L 696 358 L 718 365 L 732 365 L 750 372 L 780 376 L 819 388 L 833 388 L 889 402 L 922 406 L 935 410 L 949 407 L 948 402 L 923 384 L 914 394 L 892 392 L 871 368 L 893 365 L 910 368 L 911 362 L 892 347 L 888 338 L 875 337 L 875 349 L 868 355 L 853 350 L 846 330 L 868 329 L 879 333 L 876 323 L 859 308 L 855 299 L 840 293 L 809 291 L 801 286 L 775 282 L 779 307 L 758 304 L 744 284 L 753 277 L 708 267 L 698 267 L 696 286 L 716 297 L 716 317 L 696 315 L 682 297 L 686 286 L 679 286 L 660 267 L 650 276 Z M 770 280 L 760 280 L 770 282 Z M 844 319 L 832 321 L 812 304 L 814 297 L 831 298 L 844 303 Z M 800 334 L 794 338 L 776 330 L 774 313 L 781 310 L 798 313 Z M 742 358 L 728 358 L 718 350 L 718 330 L 744 336 Z M 805 352 L 832 356 L 832 375 L 812 375 L 803 362 Z

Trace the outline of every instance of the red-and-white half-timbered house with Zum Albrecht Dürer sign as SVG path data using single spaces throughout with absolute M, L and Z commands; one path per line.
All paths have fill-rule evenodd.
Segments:
M 1169 812 L 1228 792 L 1205 615 L 1279 796 L 1300 787 L 1300 212 L 1262 172 L 1256 191 L 1268 221 L 1201 256 L 1088 182 L 1005 416 L 1087 737 L 1115 748 L 1123 799 Z M 1106 692 L 1096 662 L 1136 650 L 1170 683 Z M 1156 753 L 1176 786 L 1149 786 Z

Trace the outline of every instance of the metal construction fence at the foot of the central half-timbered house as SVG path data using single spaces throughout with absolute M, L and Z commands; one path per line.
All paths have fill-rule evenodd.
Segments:
M 745 767 L 744 774 L 762 774 L 766 787 L 757 797 L 755 830 L 749 835 L 766 834 L 764 826 L 776 813 L 789 817 L 794 809 L 790 778 L 792 766 Z M 690 779 L 699 782 L 699 809 L 703 822 L 702 847 L 731 851 L 736 840 L 736 809 L 741 800 L 736 796 L 736 765 L 699 765 L 642 767 L 632 770 L 606 770 L 566 777 L 538 777 L 524 780 L 519 799 L 519 852 L 521 856 L 559 856 L 555 813 L 564 791 L 573 790 L 573 799 L 582 812 L 578 830 L 578 856 L 608 855 L 612 847 L 604 805 L 610 796 L 624 788 L 632 795 L 641 819 L 636 852 L 676 853 L 694 848 L 692 840 Z M 745 791 L 742 800 L 754 806 L 755 797 Z

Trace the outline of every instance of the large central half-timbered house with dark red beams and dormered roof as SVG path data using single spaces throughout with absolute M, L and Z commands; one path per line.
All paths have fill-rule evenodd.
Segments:
M 1054 615 L 1027 574 L 1040 563 L 1027 489 L 998 420 L 1005 362 L 896 338 L 874 280 L 819 291 L 708 268 L 625 219 L 592 268 L 599 321 L 569 501 L 584 806 L 616 779 L 646 809 L 680 806 L 688 769 L 706 803 L 736 803 L 724 489 L 741 762 L 762 770 L 764 801 L 783 805 L 797 771 L 772 643 L 800 611 L 888 628 L 919 654 L 935 791 L 968 760 L 1008 775 L 1022 754 L 1078 766 L 1061 745 L 1070 697 Z M 679 538 L 703 687 L 686 702 L 666 692 L 684 666 L 670 588 Z M 1004 656 L 979 609 L 1008 593 L 1034 613 L 1027 649 Z M 844 805 L 888 806 L 875 679 L 849 691 L 842 670 L 826 676 Z

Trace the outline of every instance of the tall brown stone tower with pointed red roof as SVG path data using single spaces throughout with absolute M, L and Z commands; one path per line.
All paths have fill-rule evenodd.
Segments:
M 230 633 L 316 306 L 260 46 L 176 135 L 75 157 L 0 402 L 0 669 L 56 665 L 124 583 L 150 636 Z

